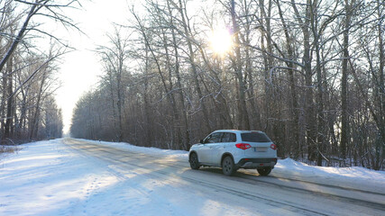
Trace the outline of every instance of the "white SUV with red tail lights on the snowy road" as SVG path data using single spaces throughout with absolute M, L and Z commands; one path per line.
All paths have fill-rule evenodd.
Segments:
M 277 164 L 277 146 L 257 130 L 215 130 L 188 154 L 192 169 L 219 166 L 225 175 L 234 175 L 238 168 L 256 168 L 260 175 L 269 175 Z

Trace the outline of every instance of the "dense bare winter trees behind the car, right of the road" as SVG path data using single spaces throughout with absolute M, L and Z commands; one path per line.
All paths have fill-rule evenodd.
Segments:
M 188 149 L 216 129 L 264 130 L 280 157 L 384 168 L 383 1 L 146 0 L 130 7 L 79 138 Z M 218 55 L 210 31 L 233 48 Z M 84 130 L 82 130 L 84 129 Z

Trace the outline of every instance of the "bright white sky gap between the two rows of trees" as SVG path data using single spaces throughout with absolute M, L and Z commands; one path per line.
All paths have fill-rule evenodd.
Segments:
M 57 102 L 63 112 L 64 133 L 69 132 L 72 111 L 79 97 L 96 84 L 102 74 L 99 58 L 93 50 L 103 45 L 107 39 L 105 34 L 112 31 L 112 23 L 125 23 L 128 6 L 125 0 L 81 1 L 82 10 L 71 11 L 69 17 L 78 23 L 78 27 L 87 35 L 77 31 L 66 31 L 62 27 L 55 35 L 69 40 L 71 47 L 77 48 L 66 54 L 60 66 L 62 87 L 57 91 Z

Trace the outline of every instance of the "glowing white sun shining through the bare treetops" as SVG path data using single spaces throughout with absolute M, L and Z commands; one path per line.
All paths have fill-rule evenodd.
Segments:
M 209 41 L 211 49 L 218 55 L 224 55 L 233 46 L 232 36 L 225 28 L 211 31 Z

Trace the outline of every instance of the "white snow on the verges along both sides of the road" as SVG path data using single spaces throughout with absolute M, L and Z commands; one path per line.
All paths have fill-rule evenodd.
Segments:
M 141 148 L 126 143 L 92 141 L 133 152 L 188 160 L 187 151 Z M 138 172 L 111 175 L 111 165 L 69 148 L 63 139 L 23 145 L 15 154 L 0 155 L 0 215 L 252 215 L 229 203 L 165 186 Z M 280 160 L 271 175 L 301 176 L 318 183 L 385 191 L 385 172 L 362 167 L 307 166 Z M 124 181 L 122 181 L 124 179 Z M 162 184 L 161 189 L 157 186 Z M 202 205 L 197 209 L 198 203 Z M 269 211 L 260 211 L 269 214 Z

